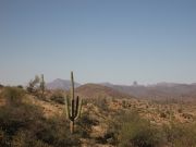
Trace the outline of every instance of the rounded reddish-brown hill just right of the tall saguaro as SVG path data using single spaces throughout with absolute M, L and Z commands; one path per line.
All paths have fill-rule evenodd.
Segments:
M 98 84 L 85 84 L 76 88 L 77 95 L 84 98 L 133 98 L 133 96 Z

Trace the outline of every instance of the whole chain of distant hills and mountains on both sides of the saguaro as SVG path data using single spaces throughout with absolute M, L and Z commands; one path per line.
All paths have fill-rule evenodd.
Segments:
M 71 82 L 68 79 L 57 78 L 47 84 L 48 89 L 64 89 L 69 90 Z M 196 83 L 193 84 L 176 84 L 176 83 L 158 83 L 155 85 L 114 85 L 110 83 L 85 84 L 75 83 L 76 90 L 81 95 L 90 97 L 137 97 L 137 98 L 177 98 L 177 97 L 194 97 L 196 98 Z

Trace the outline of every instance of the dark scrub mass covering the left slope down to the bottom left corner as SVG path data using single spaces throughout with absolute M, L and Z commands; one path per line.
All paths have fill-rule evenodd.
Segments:
M 5 105 L 0 107 L 0 146 L 2 147 L 72 147 L 79 146 L 83 130 L 69 131 L 64 115 L 45 118 L 38 106 L 23 101 L 27 97 L 16 87 L 1 93 Z

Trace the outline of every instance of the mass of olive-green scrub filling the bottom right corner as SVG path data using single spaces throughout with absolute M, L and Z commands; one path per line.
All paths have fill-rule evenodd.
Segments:
M 118 147 L 196 147 L 196 123 L 156 125 L 134 110 L 117 112 L 103 143 Z

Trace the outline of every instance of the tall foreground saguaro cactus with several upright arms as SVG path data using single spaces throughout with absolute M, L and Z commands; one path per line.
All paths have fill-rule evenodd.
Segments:
M 66 115 L 70 120 L 70 132 L 73 134 L 75 120 L 78 119 L 82 109 L 82 99 L 77 96 L 75 100 L 73 72 L 71 72 L 71 100 L 69 99 L 69 97 L 66 97 L 65 106 Z

